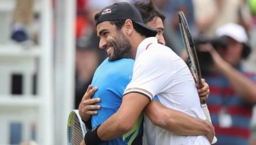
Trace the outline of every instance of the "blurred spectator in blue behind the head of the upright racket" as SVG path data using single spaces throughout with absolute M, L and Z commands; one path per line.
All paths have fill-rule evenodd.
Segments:
M 163 12 L 166 17 L 164 24 L 164 39 L 166 46 L 172 48 L 182 59 L 186 59 L 186 53 L 180 34 L 178 11 L 183 11 L 191 30 L 191 34 L 197 33 L 195 27 L 194 7 L 192 0 L 154 0 L 156 7 Z

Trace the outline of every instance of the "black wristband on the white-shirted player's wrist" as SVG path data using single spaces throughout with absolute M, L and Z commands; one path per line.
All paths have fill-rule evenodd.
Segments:
M 95 144 L 100 144 L 104 142 L 99 138 L 97 134 L 97 130 L 99 127 L 100 125 L 86 132 L 86 134 L 84 135 L 84 142 L 86 145 L 95 145 Z

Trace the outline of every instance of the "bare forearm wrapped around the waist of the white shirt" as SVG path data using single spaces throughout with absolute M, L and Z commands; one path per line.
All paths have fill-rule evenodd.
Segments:
M 175 134 L 206 135 L 210 142 L 214 137 L 214 127 L 209 121 L 165 107 L 157 100 L 152 100 L 144 111 L 154 125 Z

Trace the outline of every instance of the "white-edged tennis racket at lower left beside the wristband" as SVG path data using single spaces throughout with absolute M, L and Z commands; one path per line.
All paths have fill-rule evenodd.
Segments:
M 77 109 L 70 112 L 68 116 L 67 142 L 68 145 L 79 145 L 86 134 L 86 127 Z

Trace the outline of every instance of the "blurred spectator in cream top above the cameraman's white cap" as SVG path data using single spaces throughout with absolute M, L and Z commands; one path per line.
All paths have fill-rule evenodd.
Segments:
M 244 0 L 193 0 L 198 31 L 212 38 L 217 27 L 234 22 L 248 30 L 250 11 Z

